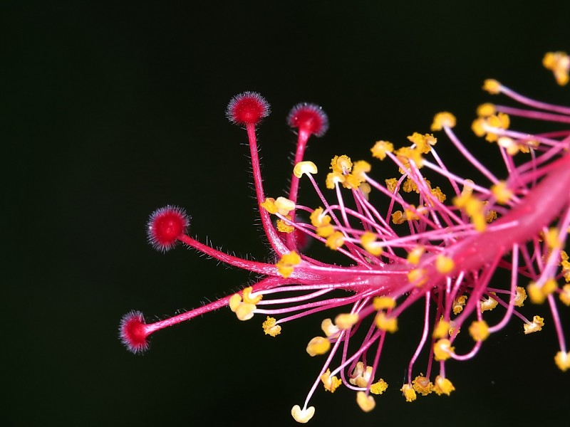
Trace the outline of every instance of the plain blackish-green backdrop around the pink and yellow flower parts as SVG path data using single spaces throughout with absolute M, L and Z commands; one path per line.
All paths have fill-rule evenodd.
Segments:
M 122 347 L 118 322 L 132 309 L 172 315 L 251 279 L 184 248 L 153 251 L 145 222 L 157 207 L 184 206 L 202 241 L 268 255 L 246 136 L 224 117 L 237 93 L 271 103 L 258 134 L 274 196 L 291 171 L 285 117 L 297 102 L 317 102 L 331 120 L 309 147 L 321 169 L 334 154 L 370 159 L 377 139 L 429 132 L 440 110 L 492 162 L 496 147 L 469 130 L 489 100 L 484 78 L 569 103 L 541 58 L 570 50 L 570 2 L 396 3 L 1 3 L 2 425 L 294 425 L 290 408 L 302 406 L 322 363 L 304 350 L 321 317 L 271 339 L 261 317 L 238 322 L 222 310 L 160 332 L 143 357 Z M 381 167 L 374 173 L 384 178 Z M 411 313 L 408 332 L 387 341 L 390 387 L 374 411 L 319 386 L 310 425 L 566 421 L 569 374 L 554 366 L 550 317 L 525 309 L 546 314 L 541 334 L 525 337 L 515 321 L 475 360 L 447 364 L 452 396 L 407 404 L 398 389 L 421 322 Z

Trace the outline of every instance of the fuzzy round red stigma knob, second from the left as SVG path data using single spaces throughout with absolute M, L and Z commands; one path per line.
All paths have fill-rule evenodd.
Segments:
M 169 251 L 189 225 L 190 218 L 184 209 L 170 205 L 157 209 L 147 223 L 148 242 L 157 251 Z

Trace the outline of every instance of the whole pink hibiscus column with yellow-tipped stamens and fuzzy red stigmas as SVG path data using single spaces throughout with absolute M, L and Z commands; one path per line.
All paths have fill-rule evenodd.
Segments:
M 557 55 L 566 67 L 568 56 Z M 566 79 L 564 70 L 554 71 L 564 84 L 567 67 Z M 445 133 L 484 176 L 481 182 L 444 164 L 432 134 L 414 133 L 406 147 L 395 149 L 390 142 L 378 141 L 371 148 L 373 157 L 393 164 L 393 176 L 378 181 L 370 174 L 370 163 L 353 162 L 341 153 L 331 161 L 327 190 L 321 190 L 314 176 L 317 167 L 304 159 L 304 152 L 311 135 L 326 132 L 328 120 L 321 107 L 299 104 L 288 119 L 299 135 L 291 188 L 275 199 L 265 194 L 257 154 L 256 126 L 269 114 L 269 105 L 257 93 L 234 97 L 227 116 L 247 130 L 259 215 L 276 263 L 238 258 L 200 243 L 186 233 L 189 220 L 182 209 L 159 209 L 148 223 L 149 241 L 159 251 L 182 242 L 257 273 L 261 280 L 155 323 L 146 324 L 140 312 L 130 312 L 120 324 L 125 346 L 143 352 L 153 332 L 225 306 L 239 320 L 262 317 L 264 332 L 271 337 L 281 328 L 286 333 L 287 322 L 316 315 L 323 334 L 309 341 L 306 352 L 325 356 L 306 400 L 291 409 L 300 423 L 314 415 L 309 401 L 319 384 L 331 392 L 346 386 L 356 391 L 363 411 L 374 408 L 373 394 L 388 387 L 380 377 L 385 337 L 398 333 L 398 318 L 416 303 L 423 305 L 425 314 L 418 324 L 420 342 L 400 386 L 406 401 L 432 392 L 449 395 L 455 387 L 445 374 L 446 361 L 475 357 L 489 334 L 512 320 L 520 322 L 525 334 L 551 322 L 559 342 L 554 360 L 561 370 L 569 369 L 559 310 L 560 302 L 570 305 L 570 261 L 563 250 L 570 228 L 570 130 L 546 129 L 531 135 L 512 130 L 509 117 L 569 125 L 570 107 L 529 99 L 496 80 L 486 80 L 484 89 L 518 103 L 481 105 L 472 125 L 477 135 L 496 143 L 503 165 L 497 174 L 455 135 L 455 117 L 441 112 L 431 130 Z M 450 149 L 449 144 L 445 149 Z M 382 169 L 389 170 L 390 165 L 383 164 Z M 320 206 L 299 203 L 301 180 L 316 191 Z M 387 207 L 373 204 L 378 199 Z M 302 245 L 306 237 L 340 253 L 346 263 L 311 258 Z M 510 280 L 494 283 L 497 270 L 509 272 Z M 519 307 L 527 297 L 537 305 L 546 303 L 550 319 L 523 315 Z M 489 324 L 485 312 L 495 307 L 502 310 L 501 320 Z M 326 310 L 341 314 L 327 318 Z M 456 349 L 461 331 L 470 335 L 472 344 Z M 417 367 L 420 357 L 422 369 Z

